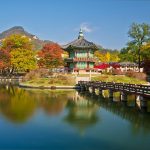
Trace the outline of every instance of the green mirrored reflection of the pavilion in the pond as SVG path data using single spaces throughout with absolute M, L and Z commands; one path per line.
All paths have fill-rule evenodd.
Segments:
M 81 132 L 98 121 L 96 115 L 98 106 L 92 101 L 87 101 L 84 97 L 79 96 L 77 92 L 74 98 L 68 101 L 67 108 L 69 113 L 65 117 L 65 121 L 77 127 Z

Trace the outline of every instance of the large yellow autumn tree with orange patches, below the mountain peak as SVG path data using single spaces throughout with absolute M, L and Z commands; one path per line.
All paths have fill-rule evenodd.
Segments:
M 32 43 L 26 36 L 13 34 L 3 40 L 1 49 L 10 55 L 7 75 L 11 75 L 14 71 L 27 71 L 36 67 L 32 48 Z

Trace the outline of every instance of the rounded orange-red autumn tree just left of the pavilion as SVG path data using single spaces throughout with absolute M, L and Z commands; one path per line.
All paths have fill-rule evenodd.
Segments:
M 58 44 L 46 44 L 38 53 L 38 65 L 45 68 L 56 68 L 63 64 L 63 50 Z

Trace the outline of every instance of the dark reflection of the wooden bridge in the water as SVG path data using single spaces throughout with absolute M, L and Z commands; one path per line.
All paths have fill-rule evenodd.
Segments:
M 136 107 L 130 108 L 126 103 L 112 102 L 109 101 L 109 99 L 103 97 L 94 96 L 90 98 L 87 97 L 87 99 L 94 101 L 95 103 L 114 113 L 115 115 L 118 115 L 121 118 L 130 121 L 132 126 L 131 129 L 134 133 L 139 133 L 141 130 L 143 131 L 143 133 L 150 132 L 149 113 L 141 113 Z

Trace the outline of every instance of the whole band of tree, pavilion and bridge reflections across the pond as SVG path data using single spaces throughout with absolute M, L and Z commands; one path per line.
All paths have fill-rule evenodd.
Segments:
M 27 90 L 11 85 L 0 87 L 0 113 L 12 123 L 26 123 L 38 110 L 42 110 L 48 116 L 64 114 L 62 122 L 84 132 L 102 121 L 100 108 L 103 108 L 129 121 L 134 134 L 150 132 L 149 113 L 141 113 L 131 106 L 132 102 L 113 102 L 74 90 Z

